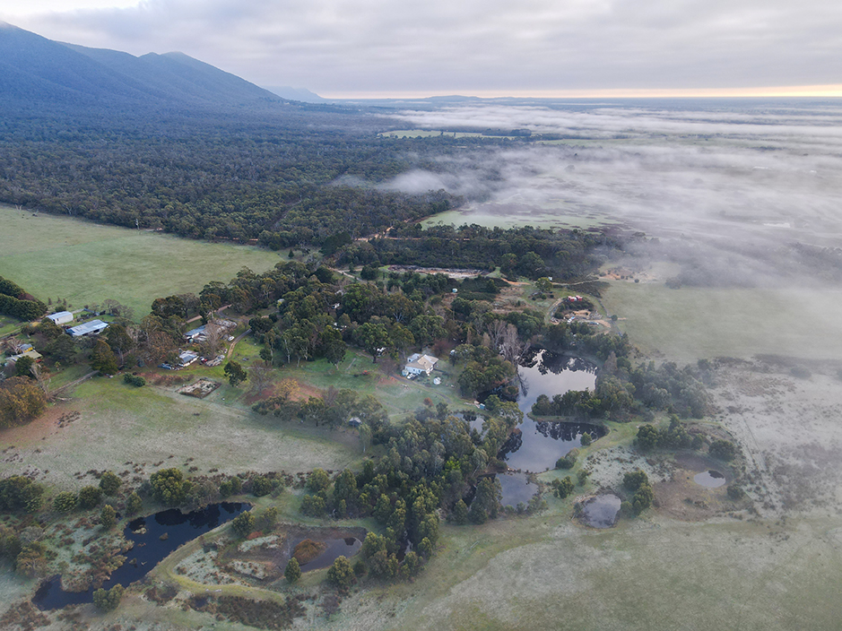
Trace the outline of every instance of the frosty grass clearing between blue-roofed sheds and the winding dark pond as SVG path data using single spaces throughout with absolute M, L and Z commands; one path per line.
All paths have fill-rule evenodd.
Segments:
M 70 402 L 0 433 L 0 450 L 13 446 L 0 462 L 0 474 L 20 472 L 25 462 L 62 489 L 91 483 L 76 480 L 78 471 L 123 471 L 129 461 L 141 466 L 144 478 L 169 466 L 195 466 L 197 474 L 212 468 L 236 473 L 359 466 L 361 450 L 352 431 L 260 417 L 223 402 L 229 387 L 199 400 L 176 393 L 178 386 L 135 388 L 96 377 L 77 386 Z M 74 411 L 78 419 L 59 428 L 57 419 Z

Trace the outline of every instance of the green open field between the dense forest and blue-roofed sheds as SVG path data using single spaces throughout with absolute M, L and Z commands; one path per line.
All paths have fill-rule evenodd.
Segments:
M 205 243 L 100 226 L 83 220 L 0 206 L 0 276 L 47 302 L 74 308 L 113 298 L 149 312 L 154 298 L 198 292 L 208 281 L 230 281 L 244 266 L 265 272 L 281 258 L 250 246 Z M 0 323 L 3 324 L 3 323 Z

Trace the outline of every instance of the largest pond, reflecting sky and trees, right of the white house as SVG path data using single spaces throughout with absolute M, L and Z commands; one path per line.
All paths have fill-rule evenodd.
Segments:
M 534 402 L 541 394 L 552 398 L 568 390 L 594 390 L 596 367 L 585 359 L 552 353 L 549 350 L 528 351 L 517 368 L 520 379 L 520 393 L 517 407 L 524 414 L 532 411 Z M 488 393 L 486 393 L 487 396 Z M 479 421 L 482 427 L 482 417 Z M 473 423 L 472 423 L 473 427 Z M 503 445 L 499 456 L 509 467 L 522 471 L 546 471 L 555 467 L 556 461 L 571 449 L 582 445 L 585 433 L 592 437 L 603 437 L 605 428 L 591 423 L 559 423 L 524 417 L 515 432 Z

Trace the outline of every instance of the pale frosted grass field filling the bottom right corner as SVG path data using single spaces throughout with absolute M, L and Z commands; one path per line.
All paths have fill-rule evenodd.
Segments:
M 833 628 L 840 553 L 799 522 L 636 521 L 598 532 L 543 516 L 447 530 L 388 628 Z

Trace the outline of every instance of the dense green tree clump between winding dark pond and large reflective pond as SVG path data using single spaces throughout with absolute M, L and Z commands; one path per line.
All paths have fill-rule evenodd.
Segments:
M 360 403 L 369 409 L 360 409 Z M 291 409 L 291 402 L 259 405 L 264 412 L 274 405 L 281 417 Z M 341 391 L 332 402 L 311 398 L 299 410 L 317 410 L 322 419 L 337 419 L 334 422 L 360 415 L 364 419 L 360 432 L 371 443 L 382 445 L 383 455 L 367 460 L 362 471 L 346 469 L 333 479 L 326 471 L 312 471 L 301 511 L 318 517 L 374 517 L 382 532 L 369 535 L 363 546 L 364 567 L 357 571 L 380 577 L 413 575 L 435 548 L 439 511 L 455 523 L 483 523 L 499 514 L 499 482 L 483 473 L 499 463 L 500 448 L 523 420 L 523 413 L 510 402 L 497 400 L 493 407 L 481 437 L 470 431 L 466 421 L 449 414 L 443 403 L 393 425 L 370 397 L 360 399 Z M 472 495 L 468 509 L 465 498 Z M 399 561 L 407 542 L 414 554 Z

